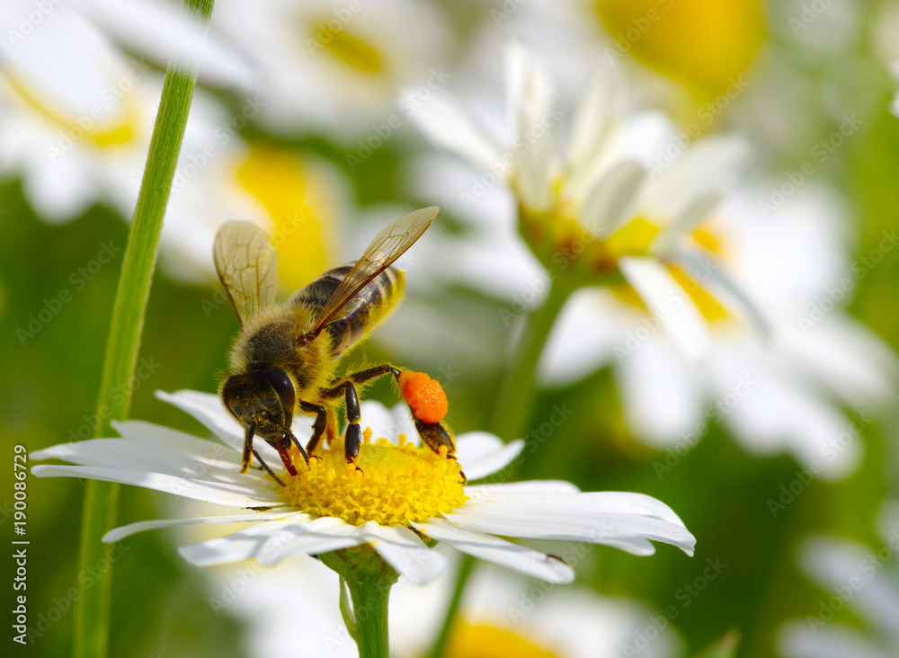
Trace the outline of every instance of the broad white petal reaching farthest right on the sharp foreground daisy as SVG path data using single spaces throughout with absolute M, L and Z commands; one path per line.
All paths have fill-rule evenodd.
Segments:
M 654 553 L 647 539 L 688 555 L 696 543 L 671 508 L 644 494 L 521 494 L 497 486 L 490 494 L 472 494 L 446 517 L 463 528 L 504 537 L 589 541 L 635 555 Z

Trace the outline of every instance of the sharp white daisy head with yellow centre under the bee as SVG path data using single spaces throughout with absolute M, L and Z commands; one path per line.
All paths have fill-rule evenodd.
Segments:
M 484 432 L 458 437 L 458 462 L 405 440 L 367 440 L 355 459 L 343 457 L 343 442 L 316 453 L 309 466 L 299 454 L 298 475 L 263 471 L 240 473 L 244 431 L 218 397 L 193 391 L 158 394 L 191 413 L 222 443 L 148 422 L 116 423 L 121 439 L 94 439 L 40 450 L 37 459 L 62 458 L 76 466 L 42 465 L 35 476 L 91 477 L 144 486 L 170 494 L 238 508 L 236 514 L 147 520 L 111 529 L 118 541 L 141 530 L 197 523 L 246 523 L 230 535 L 181 548 L 195 565 L 254 559 L 275 565 L 296 555 L 320 555 L 351 547 L 374 549 L 397 574 L 414 583 L 430 582 L 446 569 L 446 559 L 425 542 L 441 542 L 463 553 L 537 576 L 571 582 L 574 569 L 562 556 L 547 555 L 495 537 L 556 539 L 618 547 L 651 555 L 650 539 L 671 543 L 692 555 L 695 539 L 674 512 L 642 494 L 580 493 L 565 482 L 463 485 L 507 466 L 523 447 Z M 367 404 L 366 422 L 380 418 L 389 429 L 408 427 L 405 414 Z M 307 437 L 305 422 L 294 425 Z M 378 422 L 375 423 L 378 426 Z M 396 431 L 391 432 L 396 433 Z M 367 432 L 370 438 L 370 431 Z M 280 459 L 259 441 L 269 465 Z

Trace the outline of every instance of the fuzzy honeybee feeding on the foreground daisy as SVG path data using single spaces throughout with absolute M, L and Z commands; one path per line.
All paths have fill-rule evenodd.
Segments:
M 265 232 L 247 221 L 230 221 L 218 229 L 213 259 L 241 325 L 219 396 L 245 429 L 241 473 L 254 456 L 278 479 L 253 448 L 254 436 L 260 436 L 296 476 L 290 444 L 308 463 L 323 436 L 329 441 L 337 436 L 336 407 L 342 397 L 348 422 L 344 456 L 352 462 L 359 455 L 356 387 L 387 374 L 398 379 L 401 370 L 385 363 L 337 376 L 337 365 L 396 307 L 405 276 L 390 265 L 431 226 L 437 212 L 436 207 L 425 208 L 397 219 L 375 236 L 358 261 L 326 271 L 281 304 L 275 303 L 278 254 Z M 455 443 L 443 424 L 424 422 L 412 412 L 424 443 L 435 452 L 445 446 L 453 458 Z M 290 431 L 295 413 L 315 415 L 306 449 Z

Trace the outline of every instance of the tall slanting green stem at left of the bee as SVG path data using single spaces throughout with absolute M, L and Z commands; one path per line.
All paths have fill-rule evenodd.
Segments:
M 212 4 L 213 0 L 188 0 L 185 6 L 208 23 Z M 172 189 L 196 82 L 196 66 L 184 66 L 174 60 L 169 64 L 112 309 L 97 398 L 96 413 L 101 422 L 94 430 L 94 437 L 111 436 L 111 421 L 128 417 L 132 390 L 129 382 L 138 360 L 165 205 Z M 107 560 L 107 548 L 100 538 L 115 525 L 119 485 L 88 480 L 85 488 L 78 573 L 103 575 L 78 579 L 80 594 L 75 610 L 73 653 L 76 658 L 104 658 L 109 651 L 111 569 L 103 572 L 95 565 Z

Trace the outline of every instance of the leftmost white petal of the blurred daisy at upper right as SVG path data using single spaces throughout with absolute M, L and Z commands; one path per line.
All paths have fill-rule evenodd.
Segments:
M 465 158 L 484 171 L 502 160 L 502 149 L 471 122 L 446 94 L 432 98 L 411 115 L 415 125 L 435 145 Z

